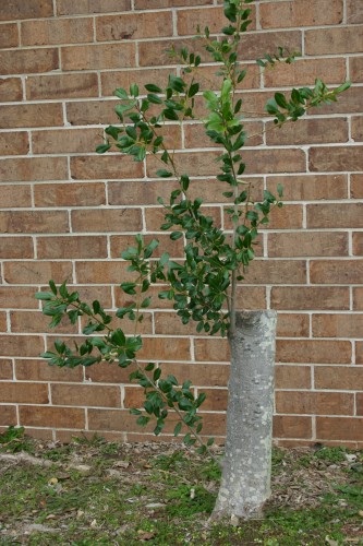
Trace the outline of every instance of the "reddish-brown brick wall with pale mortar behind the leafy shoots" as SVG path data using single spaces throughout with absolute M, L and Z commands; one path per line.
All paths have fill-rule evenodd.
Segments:
M 61 440 L 80 430 L 142 438 L 128 411 L 140 390 L 128 384 L 124 370 L 69 371 L 39 359 L 55 337 L 80 331 L 50 331 L 34 293 L 51 277 L 69 278 L 107 309 L 121 304 L 120 251 L 138 230 L 157 235 L 156 198 L 173 183 L 154 178 L 153 161 L 95 155 L 102 127 L 117 122 L 112 90 L 159 82 L 176 71 L 167 47 L 191 44 L 197 23 L 218 29 L 221 3 L 2 2 L 0 427 L 24 425 L 34 436 Z M 362 31 L 362 0 L 261 0 L 242 43 L 250 68 L 247 175 L 257 195 L 281 182 L 286 206 L 262 236 L 239 304 L 279 311 L 275 437 L 281 444 L 363 446 Z M 302 58 L 263 76 L 255 58 L 280 45 L 301 50 Z M 205 85 L 214 81 L 215 67 L 201 72 Z M 316 75 L 330 85 L 346 79 L 353 85 L 338 105 L 270 130 L 261 117 L 266 98 L 312 84 Z M 213 147 L 198 154 L 208 144 L 193 123 L 170 131 L 193 192 L 223 223 Z M 166 235 L 160 240 L 180 253 L 179 241 L 170 247 Z M 206 391 L 205 431 L 222 436 L 226 341 L 182 328 L 165 301 L 155 299 L 154 306 L 143 324 L 142 358 L 165 363 L 166 371 Z

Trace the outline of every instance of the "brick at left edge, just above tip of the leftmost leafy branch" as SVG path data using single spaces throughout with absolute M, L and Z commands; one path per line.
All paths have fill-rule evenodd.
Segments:
M 5 262 L 4 280 L 9 284 L 46 284 L 49 278 L 62 283 L 72 278 L 71 262 Z

